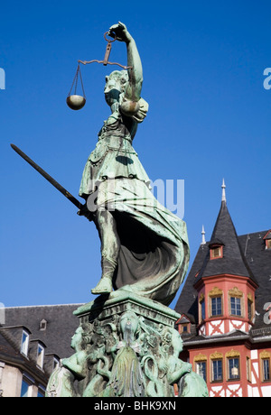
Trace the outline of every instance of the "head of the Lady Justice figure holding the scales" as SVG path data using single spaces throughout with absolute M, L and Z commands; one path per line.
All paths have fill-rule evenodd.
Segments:
M 119 102 L 121 94 L 125 91 L 128 74 L 126 70 L 114 70 L 106 77 L 104 89 L 108 106 Z

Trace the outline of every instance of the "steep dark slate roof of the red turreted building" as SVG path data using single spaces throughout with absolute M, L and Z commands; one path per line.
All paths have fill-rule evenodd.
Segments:
M 198 293 L 194 284 L 202 277 L 230 273 L 246 276 L 256 282 L 256 317 L 251 330 L 271 332 L 271 324 L 266 325 L 266 304 L 271 304 L 271 250 L 266 249 L 263 239 L 268 230 L 238 236 L 225 200 L 222 200 L 220 213 L 214 226 L 210 242 L 201 244 L 185 281 L 175 311 L 185 314 L 192 324 L 198 324 Z M 210 260 L 210 244 L 219 239 L 223 243 L 223 258 Z M 269 333 L 270 334 L 270 333 Z M 199 338 L 199 337 L 197 337 Z

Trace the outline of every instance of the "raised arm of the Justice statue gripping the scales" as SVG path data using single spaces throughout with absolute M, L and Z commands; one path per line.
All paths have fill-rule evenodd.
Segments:
M 127 31 L 126 25 L 120 22 L 110 27 L 108 35 L 119 42 L 126 42 L 129 80 L 126 85 L 125 98 L 126 100 L 137 102 L 141 94 L 143 70 L 135 40 Z

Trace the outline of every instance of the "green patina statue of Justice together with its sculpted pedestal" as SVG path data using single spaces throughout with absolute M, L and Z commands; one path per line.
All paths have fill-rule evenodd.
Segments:
M 79 215 L 93 220 L 101 241 L 102 276 L 96 300 L 75 311 L 74 354 L 51 374 L 47 396 L 208 396 L 192 364 L 182 362 L 180 315 L 167 306 L 189 263 L 185 223 L 161 206 L 133 148 L 147 114 L 143 71 L 135 41 L 123 23 L 108 32 L 126 42 L 127 72 L 107 77 L 111 115 L 83 171 Z

